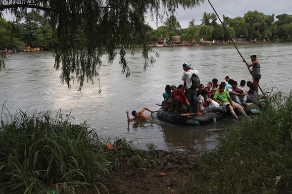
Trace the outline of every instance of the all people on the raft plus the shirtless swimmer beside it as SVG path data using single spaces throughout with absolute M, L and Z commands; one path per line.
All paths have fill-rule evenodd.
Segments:
M 240 119 L 234 112 L 234 109 L 238 109 L 243 116 L 246 116 L 243 107 L 247 102 L 256 101 L 259 79 L 261 78 L 260 64 L 256 60 L 256 55 L 251 55 L 250 59 L 251 63 L 247 63 L 245 60 L 243 62 L 248 68 L 252 67 L 252 82 L 241 80 L 238 84 L 236 80 L 226 76 L 221 83 L 218 83 L 217 78 L 213 78 L 212 82 L 207 83 L 206 87 L 200 84 L 197 89 L 191 87 L 192 75 L 198 76 L 199 72 L 195 68 L 191 68 L 191 64 L 184 63 L 182 65 L 184 70 L 183 84 L 178 87 L 175 84 L 165 86 L 165 92 L 162 95 L 164 98 L 162 108 L 178 114 L 196 112 L 197 116 L 210 111 L 226 113 L 229 110 L 235 118 Z M 243 89 L 245 84 L 249 87 L 248 91 Z M 143 108 L 139 112 L 133 111 L 134 118 L 130 118 L 129 111 L 127 111 L 128 121 L 136 118 L 150 119 L 149 116 L 144 114 L 145 110 L 154 112 L 148 108 Z

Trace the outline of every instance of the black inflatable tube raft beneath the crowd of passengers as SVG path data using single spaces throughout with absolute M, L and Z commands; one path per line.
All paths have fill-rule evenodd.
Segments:
M 245 108 L 244 112 L 247 115 L 255 115 L 260 112 L 259 107 L 249 103 Z M 230 115 L 230 113 L 220 113 L 220 112 L 209 112 L 204 113 L 201 116 L 197 116 L 195 114 L 177 114 L 174 112 L 166 111 L 163 108 L 160 108 L 157 111 L 157 118 L 163 121 L 168 121 L 176 124 L 184 124 L 184 125 L 202 125 L 207 123 L 216 122 L 220 120 L 226 115 Z

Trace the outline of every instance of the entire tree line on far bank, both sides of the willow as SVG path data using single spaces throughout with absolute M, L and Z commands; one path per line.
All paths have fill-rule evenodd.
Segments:
M 276 20 L 275 20 L 276 19 Z M 195 20 L 189 22 L 189 27 L 182 29 L 175 16 L 166 19 L 162 26 L 153 30 L 148 26 L 147 37 L 149 41 L 157 38 L 169 39 L 181 36 L 182 41 L 228 40 L 228 34 L 223 26 L 218 24 L 215 13 L 204 13 L 200 25 Z M 223 23 L 233 38 L 245 40 L 271 40 L 292 41 L 292 15 L 281 14 L 275 17 L 262 12 L 247 11 L 243 17 L 230 18 L 223 15 Z M 132 42 L 136 43 L 135 32 L 132 33 Z M 82 32 L 80 45 L 83 44 Z M 53 48 L 54 36 L 49 25 L 49 19 L 35 12 L 19 16 L 16 21 L 0 19 L 0 47 L 20 48 L 25 45 L 41 47 L 45 50 Z

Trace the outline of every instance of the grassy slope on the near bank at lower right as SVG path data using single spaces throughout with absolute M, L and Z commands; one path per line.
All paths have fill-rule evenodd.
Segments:
M 269 96 L 259 115 L 227 130 L 200 156 L 190 193 L 292 193 L 292 93 Z

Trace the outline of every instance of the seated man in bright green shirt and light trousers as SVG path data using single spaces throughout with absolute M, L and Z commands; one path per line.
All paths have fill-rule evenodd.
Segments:
M 219 85 L 219 90 L 215 92 L 213 100 L 218 102 L 220 106 L 230 104 L 229 110 L 230 110 L 231 114 L 237 119 L 239 119 L 239 117 L 235 114 L 233 109 L 238 109 L 239 112 L 241 112 L 243 115 L 247 116 L 245 114 L 242 106 L 235 103 L 233 100 L 231 100 L 228 91 L 225 89 L 225 84 L 221 83 Z

